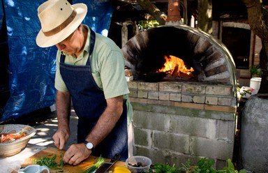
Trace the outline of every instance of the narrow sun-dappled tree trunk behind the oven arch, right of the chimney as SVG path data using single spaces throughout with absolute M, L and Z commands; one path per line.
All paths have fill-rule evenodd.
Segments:
M 212 33 L 211 0 L 198 0 L 198 28 L 206 33 Z

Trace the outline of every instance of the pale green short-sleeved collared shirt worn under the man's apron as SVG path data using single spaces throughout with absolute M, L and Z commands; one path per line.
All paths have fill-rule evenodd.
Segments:
M 87 42 L 84 51 L 75 58 L 66 54 L 65 62 L 70 65 L 84 66 L 89 59 L 90 29 L 87 28 Z M 57 52 L 57 70 L 55 88 L 59 91 L 68 91 L 59 71 L 59 61 L 63 52 Z M 125 59 L 121 49 L 110 39 L 96 33 L 94 50 L 90 56 L 91 74 L 98 87 L 103 90 L 105 98 L 114 98 L 123 95 L 128 107 L 128 124 L 132 119 L 132 107 L 128 99 L 128 84 L 124 73 Z

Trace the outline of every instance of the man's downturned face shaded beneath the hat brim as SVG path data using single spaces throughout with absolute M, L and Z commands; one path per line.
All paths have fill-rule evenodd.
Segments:
M 57 45 L 58 50 L 66 52 L 66 54 L 76 54 L 81 50 L 80 44 L 80 31 L 79 28 L 75 29 L 65 40 Z

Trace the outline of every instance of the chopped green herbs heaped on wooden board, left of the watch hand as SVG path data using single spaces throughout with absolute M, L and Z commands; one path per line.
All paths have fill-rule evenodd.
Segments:
M 60 170 L 62 167 L 64 167 L 64 161 L 61 159 L 59 163 L 56 163 L 56 154 L 54 156 L 50 154 L 49 156 L 43 156 L 42 158 L 38 158 L 38 160 L 33 159 L 33 163 L 41 166 L 47 166 L 52 170 Z M 63 157 L 63 154 L 60 156 L 61 158 Z

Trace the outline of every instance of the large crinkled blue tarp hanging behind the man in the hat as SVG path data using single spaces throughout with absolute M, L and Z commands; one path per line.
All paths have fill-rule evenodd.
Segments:
M 10 98 L 0 117 L 0 121 L 6 121 L 55 103 L 57 47 L 40 48 L 36 45 L 36 35 L 40 30 L 37 8 L 44 1 L 0 1 L 3 2 L 3 7 L 0 6 L 0 26 L 1 11 L 4 11 L 10 59 Z M 110 3 L 94 0 L 73 3 L 87 4 L 88 13 L 84 24 L 98 33 L 108 31 L 113 11 Z

